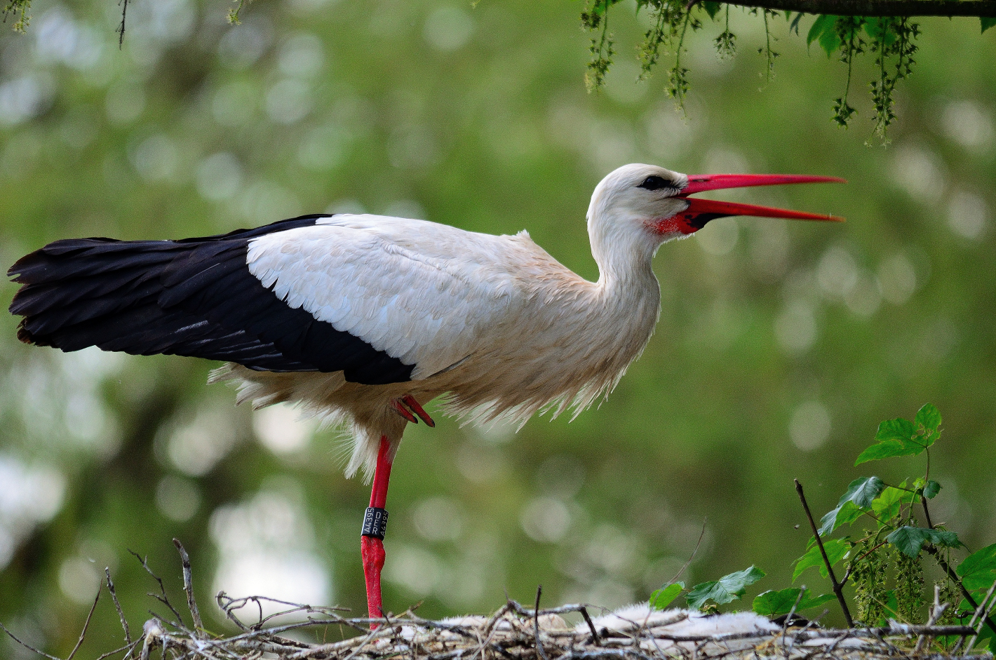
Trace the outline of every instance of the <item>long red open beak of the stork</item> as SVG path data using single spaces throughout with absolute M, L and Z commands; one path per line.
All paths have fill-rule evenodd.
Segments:
M 836 176 L 806 176 L 800 174 L 689 174 L 688 185 L 681 189 L 677 197 L 686 198 L 688 195 L 706 190 L 746 188 L 759 185 L 781 185 L 784 183 L 847 183 L 847 181 Z M 720 202 L 712 199 L 686 199 L 686 201 L 688 202 L 688 208 L 678 213 L 676 217 L 681 224 L 687 225 L 686 228 L 682 228 L 682 231 L 685 231 L 685 233 L 701 229 L 710 220 L 731 215 L 844 222 L 844 218 L 836 215 L 804 213 L 802 211 L 790 211 L 770 206 Z

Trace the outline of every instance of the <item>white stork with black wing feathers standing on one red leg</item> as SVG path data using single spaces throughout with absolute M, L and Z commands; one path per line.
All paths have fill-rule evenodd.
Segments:
M 18 337 L 79 350 L 224 360 L 238 401 L 296 401 L 352 428 L 347 476 L 373 474 L 362 533 L 371 616 L 391 462 L 405 425 L 447 413 L 524 422 L 582 410 L 619 381 L 657 321 L 657 248 L 731 215 L 831 215 L 687 196 L 741 186 L 843 181 L 823 176 L 685 175 L 624 165 L 588 210 L 589 282 L 533 243 L 421 220 L 308 215 L 178 241 L 56 241 L 19 260 L 10 311 Z

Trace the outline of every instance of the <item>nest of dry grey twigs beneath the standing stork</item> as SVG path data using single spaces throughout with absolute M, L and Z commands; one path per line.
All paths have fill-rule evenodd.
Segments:
M 200 621 L 189 558 L 179 542 L 174 543 L 183 563 L 185 616 L 169 602 L 161 579 L 138 557 L 159 586 L 159 592 L 150 595 L 169 614 L 153 612 L 135 639 L 122 615 L 125 645 L 97 660 L 939 660 L 953 656 L 937 653 L 931 644 L 925 644 L 926 639 L 955 636 L 964 640 L 976 633 L 968 626 L 895 622 L 850 629 L 820 628 L 813 621 L 779 625 L 753 612 L 705 615 L 692 610 L 654 610 L 646 603 L 593 618 L 591 605 L 541 609 L 539 593 L 532 609 L 508 600 L 491 616 L 432 621 L 409 609 L 400 616 L 378 619 L 347 617 L 344 613 L 348 610 L 340 607 L 265 596 L 232 598 L 221 592 L 217 604 L 238 632 L 215 635 Z M 110 573 L 106 586 L 121 614 Z M 98 593 L 91 616 L 99 597 Z M 282 609 L 265 614 L 274 606 Z M 571 625 L 565 614 L 580 614 L 582 621 Z M 184 618 L 192 621 L 191 625 L 187 626 Z M 80 643 L 67 660 L 76 656 L 89 623 L 90 616 Z M 305 641 L 324 637 L 330 626 L 343 631 L 342 637 L 346 631 L 356 634 L 334 642 Z M 39 655 L 61 660 L 21 642 L 6 627 L 0 628 Z M 971 645 L 969 641 L 967 648 Z M 959 657 L 993 660 L 991 653 L 973 655 L 970 651 Z

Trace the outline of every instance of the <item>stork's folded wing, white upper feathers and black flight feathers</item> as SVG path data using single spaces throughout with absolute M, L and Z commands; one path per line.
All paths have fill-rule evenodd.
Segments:
M 23 285 L 10 308 L 24 317 L 18 336 L 63 350 L 343 371 L 363 384 L 425 377 L 473 350 L 474 330 L 496 311 L 476 299 L 501 290 L 468 277 L 473 260 L 426 256 L 375 222 L 317 224 L 329 222 L 302 216 L 182 241 L 57 241 L 10 269 Z

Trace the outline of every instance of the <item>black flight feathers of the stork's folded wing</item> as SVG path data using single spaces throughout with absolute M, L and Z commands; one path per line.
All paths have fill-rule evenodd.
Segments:
M 8 272 L 22 341 L 63 350 L 227 360 L 272 371 L 344 371 L 364 384 L 409 380 L 414 365 L 292 309 L 246 265 L 251 239 L 321 215 L 179 241 L 56 241 Z

